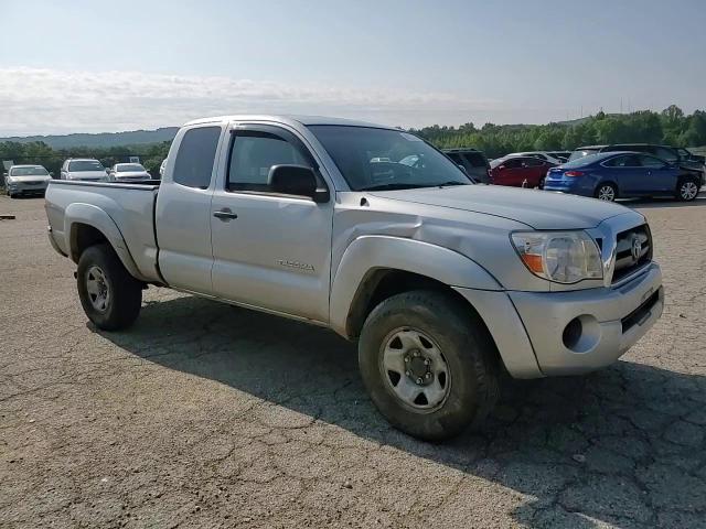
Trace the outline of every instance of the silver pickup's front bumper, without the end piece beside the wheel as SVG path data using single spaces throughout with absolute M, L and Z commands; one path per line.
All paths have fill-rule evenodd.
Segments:
M 612 364 L 644 336 L 664 307 L 662 272 L 654 262 L 617 288 L 510 292 L 510 298 L 547 376 L 575 375 Z M 567 334 L 575 319 L 580 323 L 578 337 L 570 330 Z

